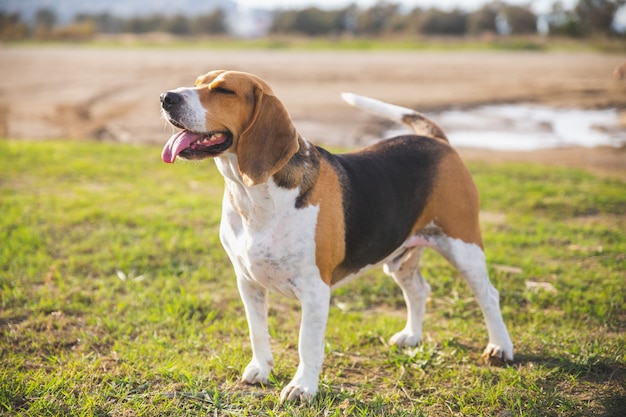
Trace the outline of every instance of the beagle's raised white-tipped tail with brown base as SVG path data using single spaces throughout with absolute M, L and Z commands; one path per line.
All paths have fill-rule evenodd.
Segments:
M 342 93 L 341 97 L 354 107 L 407 124 L 418 135 L 431 136 L 448 142 L 448 137 L 443 133 L 443 130 L 420 112 L 358 94 Z

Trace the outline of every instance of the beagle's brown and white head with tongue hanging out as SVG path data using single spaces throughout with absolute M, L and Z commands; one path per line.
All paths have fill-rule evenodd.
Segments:
M 297 133 L 283 104 L 260 78 L 236 71 L 211 71 L 192 88 L 161 94 L 164 117 L 181 129 L 162 158 L 190 160 L 237 155 L 247 185 L 278 172 L 298 150 Z

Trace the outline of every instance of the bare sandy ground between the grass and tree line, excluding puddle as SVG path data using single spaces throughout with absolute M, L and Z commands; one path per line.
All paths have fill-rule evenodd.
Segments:
M 352 147 L 385 126 L 343 103 L 343 91 L 425 112 L 504 102 L 626 109 L 626 81 L 612 75 L 625 58 L 598 53 L 0 46 L 0 137 L 164 143 L 171 129 L 160 117 L 159 94 L 191 85 L 212 69 L 235 69 L 268 81 L 309 140 Z M 532 160 L 626 178 L 623 148 L 461 153 L 470 160 Z

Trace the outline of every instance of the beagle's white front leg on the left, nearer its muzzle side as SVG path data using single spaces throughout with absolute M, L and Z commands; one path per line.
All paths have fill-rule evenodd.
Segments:
M 238 277 L 237 285 L 246 310 L 252 343 L 252 360 L 241 380 L 248 384 L 267 384 L 274 366 L 267 325 L 267 289 L 245 277 Z

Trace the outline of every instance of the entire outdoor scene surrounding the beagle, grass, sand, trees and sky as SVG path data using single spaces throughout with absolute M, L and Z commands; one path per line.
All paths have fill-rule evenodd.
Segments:
M 624 3 L 0 0 L 0 415 L 626 416 Z M 285 297 L 271 384 L 239 384 L 224 181 L 160 157 L 160 94 L 215 69 L 334 151 L 404 132 L 342 92 L 436 121 L 480 189 L 516 363 L 479 365 L 478 305 L 427 251 L 423 345 L 389 349 L 402 294 L 369 274 L 333 295 L 320 401 L 278 405 Z

